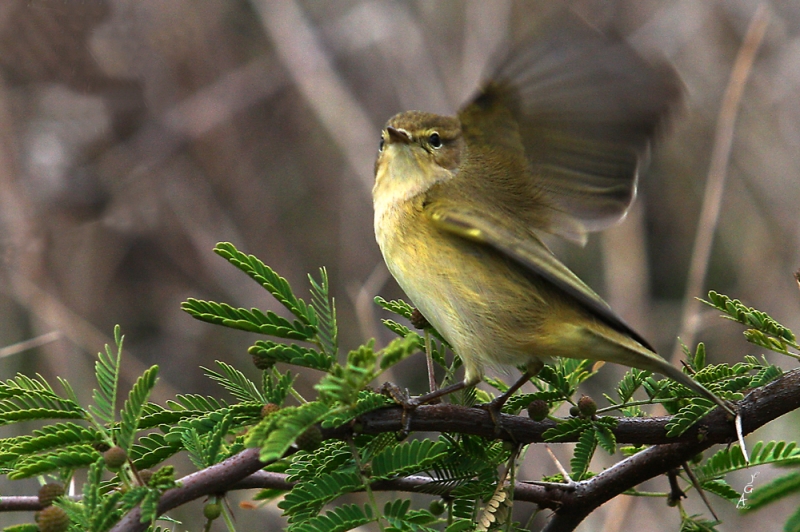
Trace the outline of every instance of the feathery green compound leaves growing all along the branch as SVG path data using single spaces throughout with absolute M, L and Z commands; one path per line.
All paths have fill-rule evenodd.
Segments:
M 69 383 L 61 379 L 59 391 L 39 375 L 17 375 L 0 382 L 0 424 L 39 423 L 29 434 L 0 439 L 0 467 L 10 479 L 40 476 L 66 483 L 77 471 L 86 470 L 82 496 L 55 503 L 68 514 L 71 530 L 110 530 L 138 508 L 142 522 L 156 531 L 160 530 L 157 520 L 163 518 L 158 515 L 159 500 L 178 486 L 175 471 L 166 460 L 185 453 L 203 472 L 256 448 L 264 468 L 285 475 L 292 487 L 264 489 L 255 498 L 280 498 L 278 507 L 290 531 L 345 531 L 370 524 L 387 531 L 420 532 L 521 527 L 511 519 L 511 507 L 516 464 L 524 449 L 500 439 L 460 433 L 398 440 L 393 433 L 366 434 L 360 429 L 362 416 L 394 404 L 372 388 L 374 383 L 420 350 L 429 350 L 434 363 L 444 370 L 445 384 L 458 378 L 461 360 L 448 354 L 449 345 L 435 329 L 427 325 L 420 334 L 402 324 L 412 316 L 408 304 L 376 298 L 380 307 L 393 314 L 383 323 L 396 338 L 382 349 L 370 340 L 340 353 L 336 308 L 325 269 L 316 278 L 309 277 L 310 297 L 304 300 L 256 257 L 228 243 L 218 244 L 215 251 L 285 310 L 279 315 L 197 299 L 183 304 L 182 308 L 199 320 L 265 337 L 255 340 L 248 351 L 255 369 L 242 371 L 220 361 L 203 368 L 229 398 L 180 394 L 164 405 L 156 404 L 149 397 L 157 384 L 157 366 L 146 370 L 129 390 L 122 390 L 123 337 L 117 327 L 115 345 L 98 354 L 96 388 L 87 407 L 79 404 Z M 713 292 L 709 299 L 726 315 L 763 335 L 749 334 L 748 338 L 759 338 L 756 345 L 786 353 L 797 349 L 792 332 L 766 314 Z M 687 371 L 730 400 L 740 399 L 749 389 L 782 374 L 777 366 L 753 356 L 734 365 L 708 364 L 703 344 L 694 351 L 685 349 L 685 355 Z M 279 370 L 277 364 L 290 368 Z M 296 368 L 320 373 L 313 397 L 304 397 L 295 388 Z M 672 414 L 668 433 L 679 435 L 713 408 L 673 381 L 656 380 L 649 372 L 631 369 L 616 390 L 604 396 L 608 404 L 587 413 L 578 407 L 584 400 L 577 401 L 575 395 L 597 369 L 589 360 L 555 360 L 531 379 L 535 391 L 515 394 L 503 409 L 504 414 L 518 415 L 533 401 L 547 405 L 549 422 L 555 425 L 544 433 L 544 439 L 575 443 L 569 462 L 572 481 L 595 475 L 591 463 L 598 448 L 609 454 L 618 450 L 618 418 L 610 413 L 646 417 L 648 405 L 659 403 Z M 258 376 L 251 377 L 251 373 Z M 487 379 L 487 383 L 499 393 L 509 389 L 500 379 Z M 472 405 L 479 399 L 491 399 L 491 394 L 473 389 L 449 399 Z M 564 404 L 571 405 L 573 412 L 557 417 L 556 411 Z M 337 439 L 326 440 L 330 435 Z M 121 468 L 111 470 L 106 465 L 103 453 L 111 447 L 120 448 L 127 457 Z M 630 455 L 642 449 L 619 450 Z M 798 452 L 795 442 L 757 443 L 750 465 L 796 469 Z M 697 463 L 693 472 L 702 489 L 736 504 L 741 494 L 726 482 L 726 476 L 746 466 L 734 446 Z M 562 477 L 551 480 L 567 480 Z M 433 498 L 431 509 L 415 508 L 415 502 L 402 497 L 382 506 L 377 503 L 375 490 L 409 478 L 422 484 L 418 490 Z M 799 486 L 796 472 L 761 486 L 748 499 L 748 511 L 796 493 Z M 341 501 L 355 492 L 364 492 L 366 502 Z M 435 512 L 434 506 L 438 508 Z M 233 523 L 229 510 L 224 512 Z M 714 529 L 702 516 L 682 516 L 687 529 Z

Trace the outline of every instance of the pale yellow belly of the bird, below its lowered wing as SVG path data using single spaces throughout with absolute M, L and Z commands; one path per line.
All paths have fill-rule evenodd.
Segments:
M 525 365 L 538 355 L 547 304 L 508 259 L 441 232 L 404 234 L 381 248 L 400 287 L 463 359 L 467 380 L 479 380 L 484 366 Z

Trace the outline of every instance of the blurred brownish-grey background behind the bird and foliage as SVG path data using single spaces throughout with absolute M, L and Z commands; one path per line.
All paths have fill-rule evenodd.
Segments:
M 627 220 L 585 248 L 555 246 L 668 355 L 682 330 L 720 104 L 759 3 L 563 4 L 626 36 L 644 55 L 665 56 L 686 84 L 685 109 L 655 147 Z M 195 297 L 280 308 L 211 252 L 218 241 L 257 255 L 299 295 L 307 294 L 306 275 L 326 266 L 343 350 L 370 337 L 385 344 L 390 336 L 372 298 L 402 294 L 372 232 L 382 125 L 407 109 L 453 113 L 506 39 L 563 4 L 3 1 L 0 377 L 40 372 L 54 382 L 59 375 L 88 400 L 95 353 L 120 324 L 124 387 L 158 364 L 154 400 L 163 404 L 178 392 L 224 397 L 200 366 L 224 360 L 255 377 L 246 350 L 257 338 L 195 321 L 180 303 Z M 735 122 L 708 274 L 690 295 L 713 288 L 800 331 L 792 277 L 800 266 L 800 4 L 763 4 L 768 25 Z M 712 362 L 761 354 L 716 312 L 690 321 Z M 29 340 L 33 348 L 21 351 L 18 343 Z M 584 392 L 599 398 L 623 372 L 607 365 Z M 301 376 L 301 391 L 311 395 L 318 377 Z M 426 382 L 422 355 L 391 378 L 424 391 L 414 388 Z M 790 418 L 755 439 L 796 438 L 786 423 L 800 420 Z M 611 460 L 598 452 L 593 469 Z M 179 466 L 179 474 L 189 471 Z M 520 478 L 554 472 L 534 448 Z M 755 486 L 773 474 L 763 471 Z M 739 490 L 749 480 L 742 475 L 732 485 Z M 33 494 L 36 486 L 3 483 L 0 490 Z M 665 491 L 666 479 L 644 489 Z M 727 530 L 776 529 L 797 503 L 740 517 L 715 502 Z M 705 512 L 696 496 L 687 508 Z M 197 529 L 199 509 L 175 516 Z M 518 505 L 517 518 L 531 510 Z M 274 505 L 237 515 L 242 530 L 282 525 Z M 0 524 L 30 519 L 5 514 Z M 581 530 L 677 530 L 678 519 L 663 499 L 619 498 Z

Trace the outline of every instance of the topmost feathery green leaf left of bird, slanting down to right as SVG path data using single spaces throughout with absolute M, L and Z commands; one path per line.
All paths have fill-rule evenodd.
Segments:
M 295 297 L 286 279 L 275 273 L 272 268 L 261 262 L 254 255 L 245 255 L 240 252 L 229 242 L 218 243 L 214 248 L 214 252 L 263 286 L 303 323 L 316 327 L 317 321 L 314 311 L 302 299 Z

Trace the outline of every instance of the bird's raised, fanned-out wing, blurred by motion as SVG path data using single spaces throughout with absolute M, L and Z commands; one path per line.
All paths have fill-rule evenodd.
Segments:
M 578 242 L 619 221 L 640 160 L 681 101 L 675 71 L 572 13 L 545 21 L 494 65 L 458 115 L 467 157 L 522 145 L 528 172 L 516 176 L 525 183 L 497 181 L 492 194 L 529 216 L 529 227 Z M 482 186 L 493 184 L 486 176 Z M 531 214 L 532 205 L 546 212 Z

